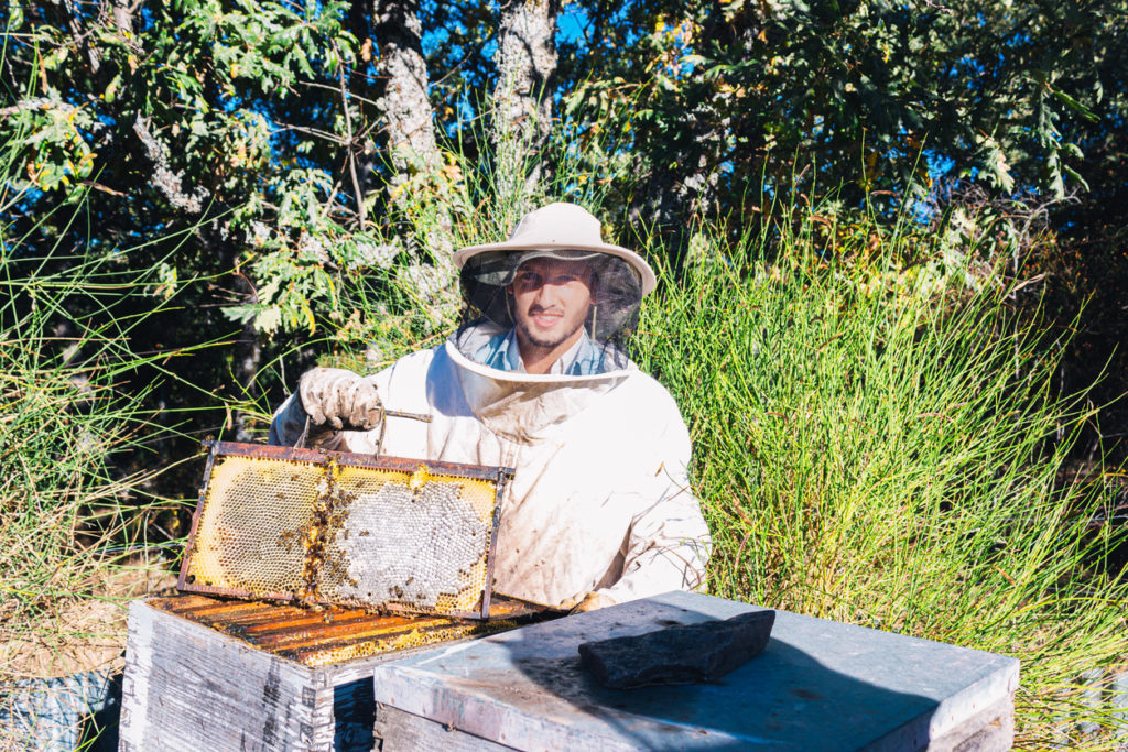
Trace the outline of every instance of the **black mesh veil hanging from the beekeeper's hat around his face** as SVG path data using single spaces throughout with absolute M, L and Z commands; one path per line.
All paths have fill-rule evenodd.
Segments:
M 583 322 L 590 347 L 598 352 L 600 373 L 626 368 L 631 337 L 638 324 L 642 285 L 629 263 L 587 250 L 492 250 L 466 259 L 461 269 L 462 325 L 455 334 L 458 350 L 482 362 L 483 342 L 515 325 L 510 284 L 522 264 L 548 257 L 578 262 L 591 271 L 591 304 Z M 585 343 L 587 346 L 587 343 Z

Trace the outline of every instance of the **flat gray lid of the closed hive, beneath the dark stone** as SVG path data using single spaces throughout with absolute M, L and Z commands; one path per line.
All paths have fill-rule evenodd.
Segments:
M 376 701 L 527 750 L 1010 747 L 1016 660 L 786 611 L 715 683 L 611 690 L 580 665 L 581 643 L 751 610 L 673 592 L 440 647 L 377 666 Z

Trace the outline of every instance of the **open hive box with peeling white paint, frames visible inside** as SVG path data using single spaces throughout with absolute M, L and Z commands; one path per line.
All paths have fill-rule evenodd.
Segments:
M 495 599 L 493 611 L 526 605 Z M 370 749 L 374 665 L 512 626 L 201 595 L 135 601 L 118 749 Z

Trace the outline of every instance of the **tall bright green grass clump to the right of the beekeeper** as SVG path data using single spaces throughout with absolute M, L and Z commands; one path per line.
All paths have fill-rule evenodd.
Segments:
M 1105 568 L 1125 534 L 1110 489 L 1060 481 L 1086 414 L 1054 397 L 1052 343 L 989 273 L 906 268 L 907 233 L 845 233 L 835 258 L 867 259 L 845 264 L 809 229 L 770 257 L 766 237 L 698 236 L 644 311 L 641 365 L 694 439 L 712 592 L 1015 656 L 1022 745 L 1110 744 L 1081 728 L 1126 731 L 1083 701 L 1128 663 L 1128 581 Z

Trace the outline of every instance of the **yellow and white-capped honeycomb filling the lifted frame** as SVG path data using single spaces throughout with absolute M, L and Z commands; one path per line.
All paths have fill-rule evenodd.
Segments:
M 315 607 L 483 611 L 497 483 L 423 465 L 347 465 L 332 452 L 320 461 L 218 453 L 182 589 Z

